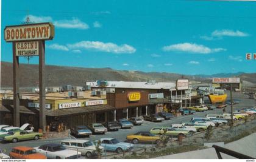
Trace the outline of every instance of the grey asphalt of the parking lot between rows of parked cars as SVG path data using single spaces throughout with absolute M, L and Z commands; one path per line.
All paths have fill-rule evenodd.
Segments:
M 229 95 L 229 92 L 227 92 Z M 229 96 L 228 96 L 229 98 Z M 252 107 L 255 106 L 255 100 L 248 99 L 247 95 L 243 95 L 240 93 L 233 93 L 233 98 L 240 100 L 239 104 L 235 104 L 234 110 L 243 109 L 244 107 Z M 230 106 L 227 106 L 226 112 L 230 112 Z M 152 127 L 158 126 L 171 126 L 171 124 L 179 124 L 185 121 L 190 121 L 192 117 L 203 117 L 206 114 L 221 114 L 222 109 L 215 109 L 215 110 L 208 110 L 206 112 L 196 112 L 193 115 L 185 115 L 185 116 L 177 116 L 172 118 L 171 120 L 165 120 L 160 123 L 154 123 L 151 121 L 144 121 L 144 123 L 141 126 L 133 126 L 132 129 L 120 129 L 118 131 L 113 132 L 107 132 L 105 135 L 91 135 L 90 138 L 79 138 L 84 140 L 99 140 L 103 137 L 111 137 L 111 138 L 117 138 L 119 141 L 126 141 L 126 136 L 131 133 L 136 133 L 138 131 L 149 131 Z M 2 149 L 5 149 L 5 154 L 9 154 L 9 152 L 12 150 L 12 147 L 15 146 L 30 146 L 30 147 L 36 147 L 41 146 L 42 144 L 46 143 L 60 143 L 60 141 L 63 140 L 62 138 L 56 138 L 56 139 L 40 139 L 38 141 L 30 140 L 30 141 L 20 141 L 18 143 L 0 143 L 0 147 Z M 135 150 L 140 149 L 144 146 L 151 146 L 152 144 L 136 144 Z M 107 153 L 111 154 L 111 153 Z M 84 158 L 84 157 L 83 157 Z

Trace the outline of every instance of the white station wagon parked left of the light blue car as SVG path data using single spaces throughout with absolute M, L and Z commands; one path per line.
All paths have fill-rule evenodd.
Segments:
M 88 140 L 73 140 L 67 139 L 60 141 L 60 144 L 66 147 L 66 149 L 71 149 L 81 152 L 82 155 L 85 155 L 87 158 L 95 157 L 97 155 L 96 146 Z M 99 146 L 99 149 L 104 152 L 104 147 Z

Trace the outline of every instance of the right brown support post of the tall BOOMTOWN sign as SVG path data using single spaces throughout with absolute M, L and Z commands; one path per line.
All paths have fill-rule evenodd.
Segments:
M 45 65 L 45 44 L 44 41 L 39 41 L 39 98 L 40 98 L 40 110 L 39 110 L 39 127 L 46 128 L 46 116 L 45 116 L 45 77 L 44 77 L 44 65 Z

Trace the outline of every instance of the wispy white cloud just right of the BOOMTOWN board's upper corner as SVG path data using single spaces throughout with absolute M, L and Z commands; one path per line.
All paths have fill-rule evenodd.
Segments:
M 88 29 L 89 25 L 85 22 L 80 21 L 80 19 L 73 18 L 71 20 L 59 20 L 54 21 L 56 27 L 68 28 L 68 29 Z

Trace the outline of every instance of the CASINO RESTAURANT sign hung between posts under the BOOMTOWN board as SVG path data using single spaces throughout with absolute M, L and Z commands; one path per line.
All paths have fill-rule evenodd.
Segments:
M 39 55 L 38 45 L 38 41 L 15 42 L 16 56 L 37 56 Z

